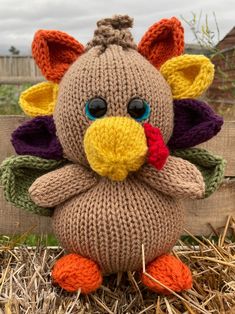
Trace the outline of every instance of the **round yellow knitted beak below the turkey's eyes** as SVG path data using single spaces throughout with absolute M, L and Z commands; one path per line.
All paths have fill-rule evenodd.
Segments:
M 148 150 L 144 128 L 126 117 L 97 119 L 85 133 L 84 147 L 91 168 L 115 181 L 137 171 Z

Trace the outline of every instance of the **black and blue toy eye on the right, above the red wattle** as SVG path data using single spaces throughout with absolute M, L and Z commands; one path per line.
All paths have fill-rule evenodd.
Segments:
M 127 111 L 129 115 L 136 121 L 143 121 L 148 119 L 151 109 L 145 100 L 140 98 L 133 98 L 128 103 Z

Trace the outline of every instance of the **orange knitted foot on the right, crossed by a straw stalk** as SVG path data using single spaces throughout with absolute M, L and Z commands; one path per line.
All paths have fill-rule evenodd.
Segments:
M 162 255 L 156 258 L 147 265 L 146 273 L 175 292 L 192 287 L 192 274 L 188 266 L 172 255 Z M 149 289 L 161 294 L 170 294 L 166 288 L 146 275 L 142 274 L 141 279 Z

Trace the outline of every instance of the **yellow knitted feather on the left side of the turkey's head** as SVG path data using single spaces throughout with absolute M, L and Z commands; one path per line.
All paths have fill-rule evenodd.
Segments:
M 25 114 L 30 117 L 52 115 L 57 94 L 57 84 L 39 83 L 21 93 L 19 104 Z

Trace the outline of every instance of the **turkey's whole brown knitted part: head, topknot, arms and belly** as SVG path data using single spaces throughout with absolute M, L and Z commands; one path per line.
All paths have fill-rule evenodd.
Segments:
M 63 152 L 75 165 L 39 178 L 30 192 L 39 205 L 57 204 L 53 228 L 65 250 L 97 262 L 108 274 L 141 269 L 142 244 L 146 263 L 167 253 L 183 226 L 176 197 L 201 197 L 204 183 L 195 166 L 176 157 L 170 157 L 160 172 L 144 165 L 121 182 L 87 169 L 84 135 L 93 121 L 85 107 L 91 98 L 106 101 L 105 117 L 130 118 L 128 103 L 139 97 L 151 108 L 145 122 L 158 127 L 166 143 L 173 129 L 167 82 L 137 50 L 127 49 L 135 48 L 127 30 L 132 20 L 116 16 L 97 25 L 87 51 L 60 83 L 54 112 Z M 113 137 L 108 140 L 117 140 Z

